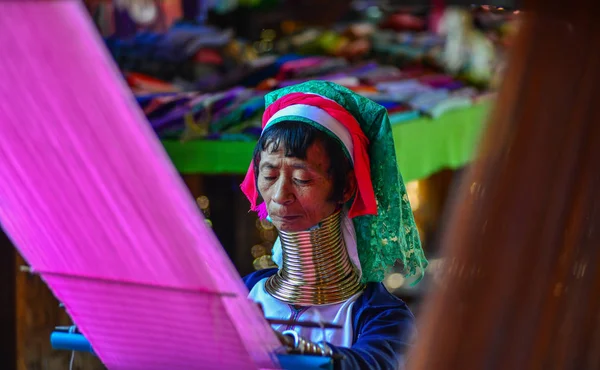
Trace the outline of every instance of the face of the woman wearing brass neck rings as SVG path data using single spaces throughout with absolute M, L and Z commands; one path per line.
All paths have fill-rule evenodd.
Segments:
M 304 160 L 286 157 L 283 145 L 270 149 L 260 156 L 258 191 L 273 225 L 281 231 L 303 231 L 331 215 L 338 204 L 329 200 L 333 181 L 323 144 L 312 144 Z

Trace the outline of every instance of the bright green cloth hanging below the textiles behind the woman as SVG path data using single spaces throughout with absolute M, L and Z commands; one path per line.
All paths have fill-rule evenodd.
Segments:
M 438 119 L 418 118 L 392 126 L 398 165 L 405 181 L 469 163 L 486 120 L 489 104 L 450 111 Z M 254 142 L 164 140 L 182 174 L 244 174 Z

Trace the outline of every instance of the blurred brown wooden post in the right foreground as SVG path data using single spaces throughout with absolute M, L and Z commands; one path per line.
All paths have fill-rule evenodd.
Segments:
M 596 0 L 531 0 L 412 370 L 600 368 Z

